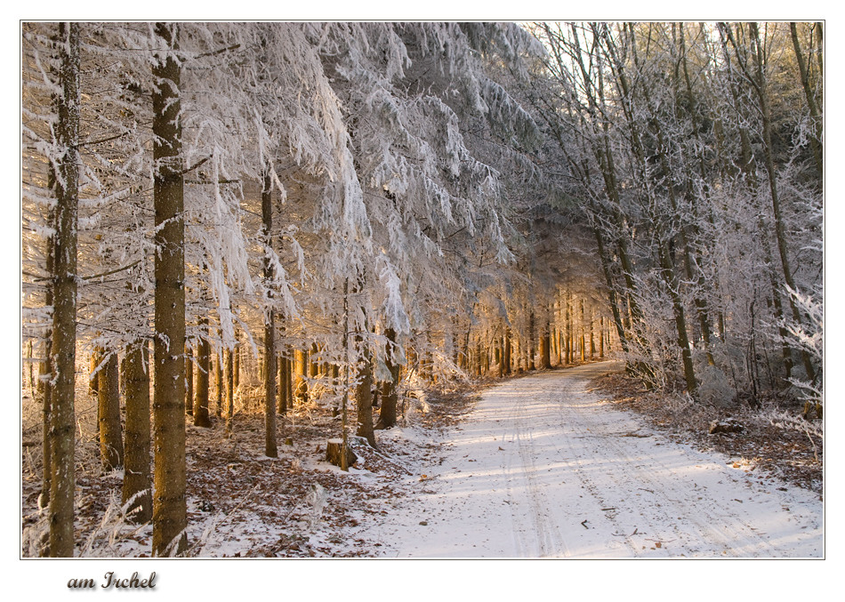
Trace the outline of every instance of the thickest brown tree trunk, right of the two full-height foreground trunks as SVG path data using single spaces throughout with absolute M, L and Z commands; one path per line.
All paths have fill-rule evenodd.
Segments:
M 153 199 L 156 213 L 155 497 L 153 554 L 187 549 L 185 498 L 185 221 L 181 159 L 180 63 L 176 26 L 157 23 L 162 47 L 152 66 Z

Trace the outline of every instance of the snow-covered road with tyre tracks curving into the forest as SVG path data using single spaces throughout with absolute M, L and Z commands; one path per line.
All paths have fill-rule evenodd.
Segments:
M 398 558 L 823 554 L 817 495 L 601 403 L 588 382 L 611 367 L 488 389 L 414 476 L 414 493 L 383 500 L 387 512 L 357 536 Z

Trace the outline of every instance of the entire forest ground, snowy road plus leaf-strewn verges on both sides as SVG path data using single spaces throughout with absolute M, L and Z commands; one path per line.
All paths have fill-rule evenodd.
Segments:
M 708 435 L 724 410 L 668 403 L 617 367 L 429 393 L 377 431 L 378 450 L 353 439 L 348 473 L 325 461 L 339 433 L 326 407 L 279 418 L 276 459 L 263 455 L 260 413 L 237 413 L 230 438 L 219 419 L 189 426 L 189 556 L 823 555 L 819 437 L 774 426 L 773 409 L 735 412 L 744 432 Z M 24 418 L 27 557 L 45 526 L 39 431 Z M 101 474 L 90 434 L 76 465 L 76 555 L 148 557 L 151 527 L 122 516 L 122 473 Z

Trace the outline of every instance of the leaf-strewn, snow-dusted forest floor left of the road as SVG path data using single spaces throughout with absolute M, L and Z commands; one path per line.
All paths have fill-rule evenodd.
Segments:
M 396 429 L 376 431 L 377 449 L 350 437 L 358 462 L 349 473 L 325 459 L 326 441 L 341 432 L 331 400 L 297 405 L 278 417 L 278 458 L 263 454 L 259 404 L 244 400 L 236 405 L 232 437 L 226 437 L 225 421 L 216 416 L 208 429 L 190 425 L 188 418 L 186 556 L 374 556 L 372 544 L 350 541 L 344 530 L 355 526 L 361 513 L 390 510 L 370 500 L 402 495 L 401 483 L 413 478 L 414 458 L 438 453 L 426 433 L 459 421 L 471 408 L 475 390 L 464 383 L 408 391 L 398 407 Z M 93 396 L 80 388 L 77 399 L 74 555 L 149 557 L 152 526 L 136 525 L 127 514 L 129 504 L 121 502 L 123 471 L 101 470 Z M 33 405 L 25 400 L 22 429 L 20 554 L 28 558 L 43 555 L 48 536 L 40 497 L 40 413 Z

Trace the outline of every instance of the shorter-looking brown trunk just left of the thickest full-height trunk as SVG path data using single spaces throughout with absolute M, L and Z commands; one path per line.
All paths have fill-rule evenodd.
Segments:
M 122 362 L 126 400 L 123 503 L 133 523 L 153 516 L 149 474 L 149 350 L 144 341 L 126 349 Z

